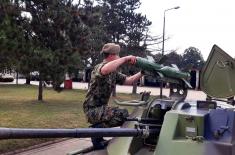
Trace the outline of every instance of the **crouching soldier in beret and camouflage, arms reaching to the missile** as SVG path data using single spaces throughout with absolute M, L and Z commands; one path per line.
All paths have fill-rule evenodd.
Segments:
M 114 43 L 107 43 L 103 46 L 101 54 L 104 56 L 102 63 L 96 65 L 91 73 L 90 87 L 83 103 L 84 113 L 91 127 L 106 128 L 116 127 L 124 123 L 128 117 L 126 109 L 108 106 L 112 90 L 116 84 L 131 85 L 142 77 L 141 72 L 133 76 L 117 71 L 123 64 L 135 64 L 135 56 L 119 57 L 120 46 Z M 103 138 L 92 138 L 95 149 L 102 149 Z

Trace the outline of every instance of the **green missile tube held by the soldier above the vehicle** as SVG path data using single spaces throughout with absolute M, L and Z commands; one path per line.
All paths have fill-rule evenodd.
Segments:
M 148 59 L 137 57 L 135 66 L 142 70 L 149 71 L 151 73 L 161 73 L 166 77 L 177 79 L 190 79 L 190 74 L 178 70 L 178 68 L 163 66 L 161 64 L 151 62 Z

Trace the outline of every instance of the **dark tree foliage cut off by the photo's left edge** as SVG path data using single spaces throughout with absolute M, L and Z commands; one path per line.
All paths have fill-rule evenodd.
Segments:
M 16 66 L 25 45 L 23 31 L 18 26 L 20 10 L 14 3 L 0 4 L 0 71 Z

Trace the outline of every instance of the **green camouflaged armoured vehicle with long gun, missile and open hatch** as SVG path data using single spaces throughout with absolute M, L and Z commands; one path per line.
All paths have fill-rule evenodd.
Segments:
M 203 67 L 202 90 L 207 100 L 185 100 L 188 73 L 137 58 L 137 67 L 170 83 L 168 97 L 116 101 L 135 110 L 121 128 L 15 129 L 0 128 L 0 139 L 48 137 L 114 137 L 99 154 L 109 155 L 235 155 L 235 61 L 214 45 Z M 226 100 L 230 98 L 230 100 Z M 71 152 L 82 154 L 92 151 Z

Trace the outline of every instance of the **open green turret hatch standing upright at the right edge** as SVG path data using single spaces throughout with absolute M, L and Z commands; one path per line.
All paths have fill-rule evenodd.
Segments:
M 229 98 L 235 95 L 235 60 L 217 45 L 201 72 L 201 89 L 214 98 Z

